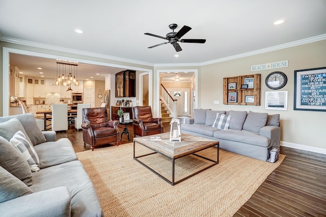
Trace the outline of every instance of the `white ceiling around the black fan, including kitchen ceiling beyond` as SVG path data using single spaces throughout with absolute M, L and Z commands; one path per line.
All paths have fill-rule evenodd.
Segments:
M 205 63 L 322 36 L 326 34 L 325 11 L 325 0 L 0 0 L 0 40 L 40 43 L 150 65 Z M 280 19 L 285 22 L 273 24 Z M 192 28 L 182 39 L 206 39 L 206 43 L 179 43 L 178 58 L 173 57 L 171 44 L 147 48 L 166 40 L 144 33 L 165 37 L 171 23 L 178 24 L 176 32 L 183 25 Z M 77 34 L 75 29 L 84 33 Z M 56 60 L 33 58 L 23 60 L 19 67 L 28 73 L 28 64 L 33 62 L 57 67 Z M 79 65 L 78 73 L 84 76 L 84 64 Z M 91 66 L 85 76 L 99 73 L 103 79 L 102 74 L 121 71 Z

